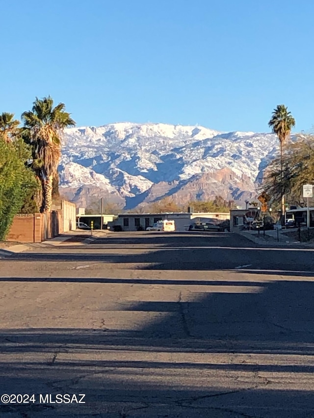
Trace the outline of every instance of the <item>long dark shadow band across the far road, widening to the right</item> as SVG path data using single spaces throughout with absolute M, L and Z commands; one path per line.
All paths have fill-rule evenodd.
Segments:
M 129 268 L 132 264 L 137 270 L 242 270 L 252 272 L 274 271 L 275 274 L 293 272 L 310 274 L 314 272 L 313 252 L 300 249 L 272 249 L 231 246 L 172 246 L 157 247 L 140 251 L 132 245 L 126 253 L 114 253 L 115 248 L 102 248 L 102 252 L 29 252 L 13 254 L 3 260 L 23 260 L 27 262 L 97 262 L 114 264 L 116 269 Z M 121 246 L 118 249 L 122 249 Z M 138 250 L 136 252 L 135 250 Z M 222 251 L 223 250 L 223 251 Z

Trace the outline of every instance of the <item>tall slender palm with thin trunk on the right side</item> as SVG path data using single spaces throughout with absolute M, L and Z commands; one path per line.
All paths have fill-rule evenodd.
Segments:
M 278 136 L 280 142 L 281 180 L 283 181 L 283 145 L 289 138 L 291 129 L 295 126 L 295 120 L 284 104 L 278 104 L 272 113 L 268 126 L 272 128 L 272 132 Z M 282 193 L 282 214 L 285 214 L 284 193 Z

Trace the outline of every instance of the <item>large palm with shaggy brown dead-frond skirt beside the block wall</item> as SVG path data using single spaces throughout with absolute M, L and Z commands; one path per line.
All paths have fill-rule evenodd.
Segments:
M 33 148 L 33 169 L 40 177 L 43 189 L 42 212 L 51 212 L 52 180 L 61 157 L 61 134 L 64 128 L 74 126 L 64 103 L 53 107 L 52 98 L 36 98 L 31 111 L 22 115 L 24 136 Z

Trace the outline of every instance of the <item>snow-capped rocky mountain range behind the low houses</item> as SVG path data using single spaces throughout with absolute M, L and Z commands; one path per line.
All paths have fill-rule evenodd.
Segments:
M 66 129 L 59 167 L 63 195 L 88 206 L 105 197 L 121 208 L 172 196 L 178 203 L 256 195 L 278 152 L 274 134 L 203 126 L 112 123 Z

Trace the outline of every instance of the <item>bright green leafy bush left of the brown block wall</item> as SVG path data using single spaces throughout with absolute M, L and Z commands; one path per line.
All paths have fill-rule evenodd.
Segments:
M 34 173 L 26 168 L 27 149 L 20 142 L 0 140 L 0 240 L 4 240 L 14 216 L 37 187 Z

